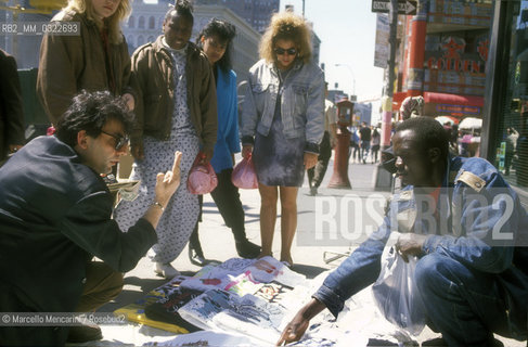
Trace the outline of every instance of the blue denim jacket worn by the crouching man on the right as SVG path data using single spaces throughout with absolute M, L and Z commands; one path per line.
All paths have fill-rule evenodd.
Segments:
M 518 293 L 519 286 L 525 293 L 528 287 L 528 215 L 497 169 L 481 158 L 450 158 L 435 230 L 427 222 L 430 210 L 421 207 L 426 198 L 432 200 L 415 196 L 411 185 L 395 194 L 383 224 L 325 279 L 313 297 L 337 316 L 345 300 L 377 279 L 391 231 L 412 231 L 430 234 L 423 246 L 425 254 L 440 253 L 499 274 L 511 308 L 526 308 L 528 298 Z M 519 329 L 526 332 L 526 326 Z

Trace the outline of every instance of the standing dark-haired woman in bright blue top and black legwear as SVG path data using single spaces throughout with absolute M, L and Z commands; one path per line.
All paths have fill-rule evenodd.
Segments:
M 255 258 L 260 254 L 260 247 L 246 237 L 244 209 L 239 189 L 231 182 L 234 153 L 241 151 L 236 74 L 231 69 L 231 46 L 235 34 L 235 27 L 232 24 L 213 18 L 199 33 L 196 43 L 213 65 L 217 83 L 218 132 L 210 164 L 217 174 L 218 185 L 210 195 L 218 206 L 226 226 L 233 231 L 239 256 Z M 197 222 L 189 241 L 191 262 L 205 265 L 206 260 L 198 240 Z

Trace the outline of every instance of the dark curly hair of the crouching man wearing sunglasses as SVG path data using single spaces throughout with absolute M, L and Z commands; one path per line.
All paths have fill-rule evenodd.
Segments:
M 77 94 L 56 126 L 55 136 L 72 147 L 77 144 L 77 133 L 86 130 L 96 138 L 108 120 L 117 120 L 125 127 L 125 132 L 132 129 L 133 114 L 128 111 L 121 98 L 113 97 L 108 91 Z

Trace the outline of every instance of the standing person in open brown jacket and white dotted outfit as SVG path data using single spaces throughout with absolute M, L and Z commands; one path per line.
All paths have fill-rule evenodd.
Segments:
M 180 151 L 181 180 L 186 182 L 197 155 L 208 163 L 217 141 L 217 97 L 215 77 L 207 56 L 190 42 L 194 17 L 189 1 L 178 1 L 163 24 L 164 35 L 132 55 L 138 83 L 138 107 L 131 136 L 131 178 L 141 180 L 139 196 L 121 201 L 114 213 L 123 229 L 128 228 L 152 202 L 155 172 Z M 189 242 L 199 214 L 198 196 L 181 184 L 156 229 L 158 242 L 152 247 L 154 271 L 172 278 L 170 265 Z

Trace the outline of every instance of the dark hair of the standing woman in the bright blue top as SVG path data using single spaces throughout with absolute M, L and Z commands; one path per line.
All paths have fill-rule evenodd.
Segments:
M 232 68 L 231 64 L 231 48 L 234 37 L 236 36 L 236 28 L 229 22 L 213 18 L 204 26 L 196 38 L 196 44 L 203 49 L 202 38 L 210 38 L 217 36 L 220 41 L 226 42 L 226 53 L 217 62 L 222 72 L 228 73 Z

